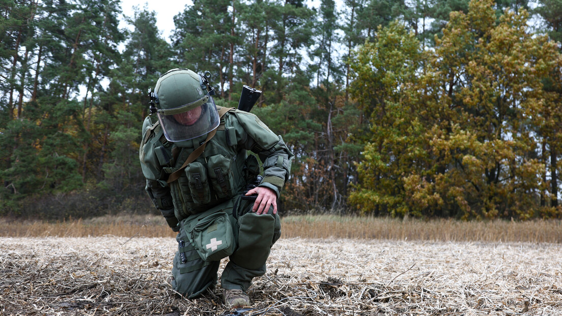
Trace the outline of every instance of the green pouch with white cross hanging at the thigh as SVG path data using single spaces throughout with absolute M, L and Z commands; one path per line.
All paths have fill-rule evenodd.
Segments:
M 191 236 L 189 233 L 188 236 L 201 259 L 218 261 L 234 252 L 236 244 L 228 214 L 214 212 L 189 222 L 189 226 L 194 226 Z

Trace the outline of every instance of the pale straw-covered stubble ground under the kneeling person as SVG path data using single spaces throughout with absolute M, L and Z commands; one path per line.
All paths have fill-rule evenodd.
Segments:
M 0 315 L 562 315 L 558 244 L 281 239 L 245 311 L 171 290 L 173 238 L 0 244 Z

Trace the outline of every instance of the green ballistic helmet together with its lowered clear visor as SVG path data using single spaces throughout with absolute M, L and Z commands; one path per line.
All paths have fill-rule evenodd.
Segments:
M 169 141 L 205 135 L 219 126 L 219 113 L 208 81 L 186 68 L 175 68 L 158 78 L 154 88 L 158 121 Z

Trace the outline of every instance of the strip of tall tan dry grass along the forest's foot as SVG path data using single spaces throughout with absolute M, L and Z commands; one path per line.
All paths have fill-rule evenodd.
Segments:
M 562 221 L 461 222 L 452 219 L 421 221 L 350 216 L 282 217 L 284 237 L 348 238 L 440 241 L 515 241 L 562 244 Z M 175 233 L 161 216 L 121 214 L 90 219 L 48 222 L 20 222 L 0 218 L 0 236 L 170 237 Z

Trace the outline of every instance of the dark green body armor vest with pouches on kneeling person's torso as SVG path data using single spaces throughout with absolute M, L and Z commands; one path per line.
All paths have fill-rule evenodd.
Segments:
M 164 138 L 158 123 L 152 125 L 151 130 L 152 137 L 145 135 L 143 138 L 141 155 L 156 155 L 163 171 L 158 181 L 161 184 L 166 183 L 171 173 L 180 170 L 189 154 L 207 137 L 171 143 Z M 151 142 L 153 144 L 148 144 Z M 203 153 L 179 173 L 177 180 L 167 184 L 178 220 L 231 200 L 259 173 L 256 157 L 248 156 L 245 149 L 239 150 L 235 142 L 234 127 L 225 126 L 224 117 L 221 118 L 215 136 L 207 142 Z M 148 153 L 151 148 L 154 153 Z

